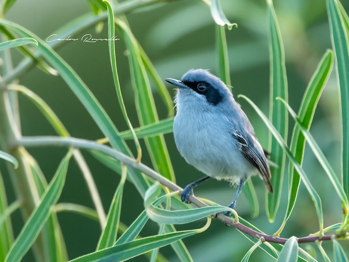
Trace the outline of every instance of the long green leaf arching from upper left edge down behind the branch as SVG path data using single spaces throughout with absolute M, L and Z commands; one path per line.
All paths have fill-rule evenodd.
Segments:
M 39 37 L 32 34 L 32 32 L 25 28 L 6 21 L 1 20 L 0 25 L 2 27 L 8 27 L 11 30 L 17 32 L 24 37 L 32 37 L 38 41 L 37 49 L 42 56 L 51 63 L 51 65 L 59 72 L 61 77 L 66 81 L 68 86 L 72 89 L 74 94 L 78 97 L 80 102 L 88 110 L 89 114 L 97 123 L 98 127 L 102 130 L 104 135 L 109 138 L 112 147 L 116 148 L 120 152 L 131 156 L 129 148 L 126 146 L 125 141 L 118 136 L 118 131 L 115 125 L 112 123 L 101 104 L 97 101 L 96 97 L 91 93 L 81 78 L 75 73 L 72 67 L 70 67 L 54 50 L 52 50 L 44 41 Z M 1 27 L 0 27 L 1 28 Z M 128 174 L 132 179 L 137 190 L 143 196 L 144 192 L 148 188 L 148 180 L 137 170 L 133 168 L 128 169 Z

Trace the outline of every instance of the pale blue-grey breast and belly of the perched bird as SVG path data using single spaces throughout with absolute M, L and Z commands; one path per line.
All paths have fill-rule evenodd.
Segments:
M 184 159 L 210 177 L 236 184 L 257 174 L 240 153 L 227 126 L 205 124 L 200 119 L 180 123 L 175 118 L 173 134 Z

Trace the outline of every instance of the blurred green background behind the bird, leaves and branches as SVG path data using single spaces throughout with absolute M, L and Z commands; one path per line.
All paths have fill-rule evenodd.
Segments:
M 266 3 L 257 0 L 221 0 L 221 4 L 230 22 L 238 24 L 238 28 L 233 28 L 231 31 L 226 30 L 232 92 L 235 97 L 238 94 L 250 97 L 268 115 L 269 49 Z M 342 1 L 342 4 L 348 11 L 348 1 Z M 289 103 L 297 111 L 307 83 L 321 56 L 326 49 L 331 48 L 326 3 L 325 0 L 278 0 L 274 1 L 274 6 L 285 49 Z M 87 1 L 83 0 L 18 0 L 9 10 L 6 19 L 46 39 L 68 21 L 87 12 L 89 12 Z M 215 25 L 209 8 L 203 2 L 173 1 L 166 5 L 161 4 L 156 9 L 143 9 L 137 13 L 127 14 L 127 19 L 133 34 L 154 63 L 162 79 L 180 79 L 181 75 L 191 68 L 205 68 L 216 73 Z M 81 39 L 85 34 L 91 34 L 94 38 L 106 38 L 107 24 L 104 24 L 100 34 L 97 34 L 93 27 L 71 37 Z M 125 52 L 122 40 L 121 38 L 115 42 L 120 86 L 129 118 L 133 126 L 137 127 L 139 123 L 131 87 L 127 52 Z M 113 83 L 107 42 L 69 41 L 58 50 L 58 53 L 74 68 L 95 94 L 117 128 L 120 131 L 126 130 L 127 125 L 119 109 Z M 14 65 L 16 65 L 22 55 L 16 50 L 13 50 L 12 54 Z M 52 107 L 73 137 L 91 140 L 103 137 L 82 104 L 60 77 L 47 75 L 34 68 L 20 79 L 20 83 L 36 92 Z M 166 86 L 173 97 L 173 86 L 168 83 Z M 154 96 L 159 117 L 163 119 L 167 115 L 165 105 L 156 90 L 154 90 Z M 244 100 L 237 99 L 237 102 L 242 104 L 260 143 L 267 148 L 268 129 Z M 22 95 L 20 95 L 20 112 L 24 136 L 55 135 L 54 130 L 41 113 Z M 340 174 L 341 156 L 339 116 L 338 88 L 335 71 L 333 71 L 320 98 L 310 131 L 337 174 Z M 294 122 L 290 119 L 289 134 L 293 125 Z M 165 139 L 178 185 L 184 187 L 203 176 L 180 156 L 171 133 L 166 134 Z M 142 140 L 140 142 L 144 149 L 142 162 L 151 166 L 144 143 Z M 134 142 L 128 141 L 128 145 L 136 154 Z M 65 150 L 62 148 L 30 148 L 29 153 L 37 159 L 46 179 L 50 181 Z M 84 153 L 84 156 L 91 168 L 104 209 L 107 212 L 120 176 L 102 166 L 88 153 Z M 340 199 L 308 146 L 305 150 L 303 167 L 322 199 L 325 227 L 340 222 Z M 3 161 L 1 161 L 0 169 L 5 180 L 8 201 L 11 203 L 15 200 L 15 196 Z M 288 175 L 285 174 L 280 208 L 273 224 L 268 222 L 265 213 L 266 190 L 258 177 L 253 178 L 253 183 L 260 203 L 260 215 L 258 218 L 251 218 L 249 205 L 245 197 L 241 196 L 236 206 L 239 216 L 247 219 L 265 233 L 273 234 L 281 225 L 286 211 L 287 182 Z M 231 188 L 227 182 L 209 180 L 195 189 L 195 195 L 228 205 L 235 195 L 235 189 Z M 59 202 L 72 202 L 93 207 L 86 183 L 73 160 L 70 162 L 67 181 Z M 134 186 L 126 182 L 120 220 L 129 225 L 142 210 L 142 198 Z M 16 211 L 12 218 L 16 236 L 23 226 L 23 221 L 19 211 Z M 58 218 L 69 259 L 95 250 L 101 234 L 100 226 L 96 221 L 73 213 L 58 213 Z M 195 228 L 203 224 L 205 221 L 199 221 L 193 223 L 191 227 Z M 177 226 L 176 228 L 188 228 L 188 226 Z M 158 226 L 149 221 L 141 234 L 142 236 L 153 235 L 157 234 L 157 231 Z M 301 237 L 316 231 L 318 231 L 318 221 L 315 209 L 307 190 L 301 183 L 294 211 L 281 236 L 284 238 L 292 235 Z M 252 246 L 252 243 L 238 231 L 225 227 L 216 220 L 213 220 L 207 231 L 184 239 L 184 243 L 194 261 L 240 261 Z M 348 250 L 348 243 L 341 242 L 341 244 L 344 250 Z M 328 254 L 331 255 L 332 243 L 324 242 L 323 245 L 325 249 L 329 247 L 326 250 L 329 250 Z M 302 248 L 305 246 L 300 245 Z M 317 249 L 314 244 L 312 246 Z M 178 261 L 170 247 L 161 248 L 160 252 L 170 261 Z M 321 261 L 322 258 L 319 255 L 318 253 L 319 261 Z M 33 256 L 30 251 L 23 261 L 32 260 Z M 260 250 L 251 256 L 251 261 L 271 260 L 271 257 Z M 144 256 L 139 256 L 132 261 L 146 261 L 146 259 Z

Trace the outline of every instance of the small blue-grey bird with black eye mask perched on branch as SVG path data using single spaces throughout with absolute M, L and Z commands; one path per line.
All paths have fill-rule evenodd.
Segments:
M 225 83 L 204 69 L 189 70 L 181 81 L 165 81 L 176 87 L 173 136 L 177 149 L 187 163 L 206 175 L 184 188 L 181 201 L 190 203 L 193 189 L 210 177 L 238 186 L 231 209 L 235 209 L 243 185 L 251 176 L 258 174 L 273 193 L 268 153 Z M 224 214 L 231 216 L 230 211 Z

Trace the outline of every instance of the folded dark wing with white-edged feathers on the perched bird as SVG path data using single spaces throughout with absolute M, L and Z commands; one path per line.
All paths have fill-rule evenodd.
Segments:
M 252 142 L 250 145 L 248 145 L 247 140 L 239 132 L 232 132 L 232 136 L 237 140 L 237 143 L 240 146 L 239 149 L 243 153 L 244 157 L 248 160 L 248 162 L 258 169 L 259 177 L 264 181 L 268 191 L 273 193 L 272 184 L 270 183 L 270 178 L 272 176 L 270 174 L 267 159 L 262 157 Z

